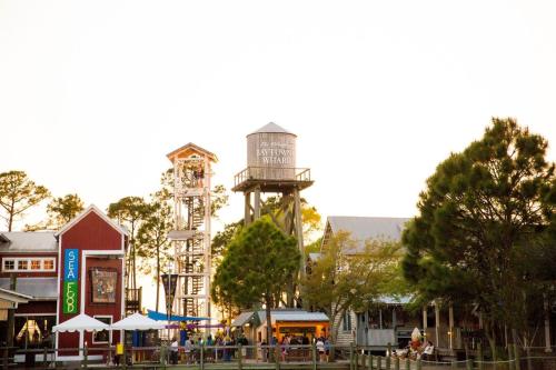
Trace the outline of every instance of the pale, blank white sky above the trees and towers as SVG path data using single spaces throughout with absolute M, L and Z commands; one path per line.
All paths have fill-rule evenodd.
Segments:
M 554 1 L 0 0 L 0 172 L 106 209 L 191 141 L 229 189 L 274 121 L 325 218 L 411 217 L 492 116 L 556 146 L 555 18 Z M 241 217 L 231 194 L 221 219 Z

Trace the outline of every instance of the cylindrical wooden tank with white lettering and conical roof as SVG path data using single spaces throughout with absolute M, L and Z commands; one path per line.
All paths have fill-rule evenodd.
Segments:
M 247 136 L 247 167 L 252 179 L 295 180 L 296 136 L 268 123 Z

